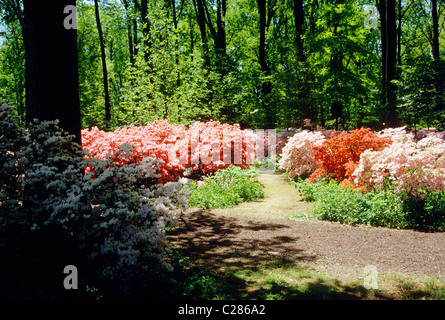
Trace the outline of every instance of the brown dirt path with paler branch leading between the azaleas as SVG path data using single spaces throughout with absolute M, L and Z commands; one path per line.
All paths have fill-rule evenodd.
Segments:
M 365 266 L 380 274 L 445 278 L 445 233 L 422 233 L 326 221 L 290 221 L 305 213 L 297 190 L 279 174 L 261 172 L 265 199 L 230 209 L 190 209 L 172 235 L 176 247 L 214 269 L 245 268 L 280 257 L 289 264 L 340 280 L 363 278 Z

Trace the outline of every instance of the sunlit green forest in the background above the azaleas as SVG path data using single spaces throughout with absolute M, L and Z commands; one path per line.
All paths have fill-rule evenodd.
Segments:
M 0 9 L 1 99 L 24 122 L 23 3 Z M 442 0 L 82 0 L 77 28 L 83 128 L 445 126 Z

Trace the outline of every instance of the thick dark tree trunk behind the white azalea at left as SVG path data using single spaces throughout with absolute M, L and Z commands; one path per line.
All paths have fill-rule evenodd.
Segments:
M 26 120 L 60 120 L 81 143 L 77 30 L 66 29 L 74 0 L 24 0 Z

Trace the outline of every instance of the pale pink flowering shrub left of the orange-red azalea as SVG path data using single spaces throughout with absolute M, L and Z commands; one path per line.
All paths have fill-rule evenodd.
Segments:
M 318 167 L 312 147 L 320 146 L 323 141 L 325 137 L 318 131 L 296 133 L 284 146 L 278 167 L 286 170 L 291 178 L 311 174 Z

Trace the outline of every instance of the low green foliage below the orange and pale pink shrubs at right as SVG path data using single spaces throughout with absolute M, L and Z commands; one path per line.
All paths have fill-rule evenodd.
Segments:
M 315 201 L 317 218 L 346 224 L 389 228 L 442 229 L 445 193 L 430 193 L 423 201 L 390 190 L 363 193 L 342 189 L 337 182 L 292 182 L 305 201 Z

